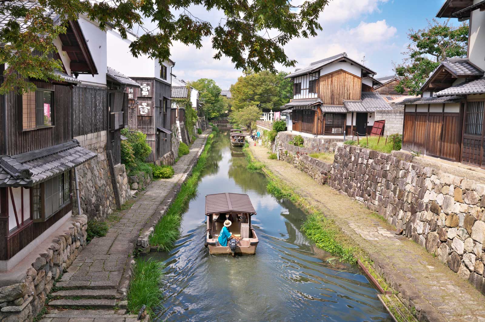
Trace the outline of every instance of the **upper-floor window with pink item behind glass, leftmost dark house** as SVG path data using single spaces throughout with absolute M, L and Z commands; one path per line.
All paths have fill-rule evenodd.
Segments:
M 54 125 L 54 92 L 37 89 L 22 95 L 22 130 Z

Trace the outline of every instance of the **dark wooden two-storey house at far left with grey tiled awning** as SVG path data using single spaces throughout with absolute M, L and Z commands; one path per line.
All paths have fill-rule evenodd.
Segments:
M 50 18 L 57 23 L 55 16 Z M 8 19 L 8 13 L 0 17 Z M 14 267 L 70 218 L 71 169 L 96 156 L 73 140 L 72 101 L 80 81 L 70 75 L 98 73 L 79 22 L 69 21 L 54 44 L 59 51 L 54 57 L 64 65 L 61 79 L 31 79 L 35 91 L 10 92 L 0 99 L 1 271 Z M 77 51 L 71 54 L 66 47 Z M 0 66 L 0 75 L 4 68 Z

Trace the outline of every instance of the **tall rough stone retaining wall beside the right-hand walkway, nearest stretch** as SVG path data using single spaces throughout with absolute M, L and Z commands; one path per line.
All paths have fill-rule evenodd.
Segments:
M 413 161 L 404 152 L 339 146 L 329 185 L 403 229 L 485 293 L 485 184 Z

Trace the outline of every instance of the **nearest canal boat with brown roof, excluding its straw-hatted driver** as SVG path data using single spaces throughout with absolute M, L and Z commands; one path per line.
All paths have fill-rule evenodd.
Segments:
M 206 195 L 206 247 L 209 247 L 210 255 L 217 254 L 249 254 L 256 253 L 258 236 L 251 225 L 251 216 L 255 215 L 253 204 L 247 194 L 242 193 L 216 193 Z M 221 246 L 217 240 L 224 226 L 229 220 L 231 225 L 229 232 L 242 240 L 227 241 L 227 246 Z M 236 240 L 232 240 L 236 241 Z

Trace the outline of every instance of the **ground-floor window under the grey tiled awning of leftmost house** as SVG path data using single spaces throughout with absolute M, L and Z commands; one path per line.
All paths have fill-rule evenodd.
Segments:
M 71 201 L 70 194 L 70 171 L 32 187 L 32 219 L 37 222 L 48 220 Z

